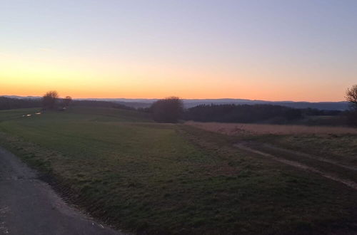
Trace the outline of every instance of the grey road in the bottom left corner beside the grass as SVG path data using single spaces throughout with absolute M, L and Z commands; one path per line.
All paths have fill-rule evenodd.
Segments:
M 69 207 L 34 170 L 0 147 L 0 234 L 121 233 Z

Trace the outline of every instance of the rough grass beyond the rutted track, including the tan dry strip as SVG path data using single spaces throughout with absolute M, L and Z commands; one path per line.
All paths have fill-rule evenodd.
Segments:
M 253 140 L 268 143 L 288 150 L 324 157 L 326 160 L 346 166 L 357 167 L 357 128 L 353 127 L 217 122 L 186 122 L 186 125 L 230 135 L 236 137 L 233 138 L 235 141 Z

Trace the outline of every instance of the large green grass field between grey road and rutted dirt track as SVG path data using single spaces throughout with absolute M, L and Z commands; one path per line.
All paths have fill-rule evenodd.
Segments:
M 22 117 L 36 112 L 0 111 L 0 145 L 39 169 L 71 202 L 121 229 L 357 231 L 356 190 L 239 150 L 232 146 L 236 137 L 158 124 L 132 110 L 70 108 Z

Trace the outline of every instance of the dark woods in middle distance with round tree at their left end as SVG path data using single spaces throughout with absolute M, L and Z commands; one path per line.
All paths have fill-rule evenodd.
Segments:
M 144 111 L 151 113 L 156 122 L 258 122 L 273 117 L 286 120 L 301 118 L 302 110 L 279 105 L 198 105 L 183 109 L 183 102 L 177 97 L 157 100 Z M 310 110 L 312 112 L 312 110 Z

